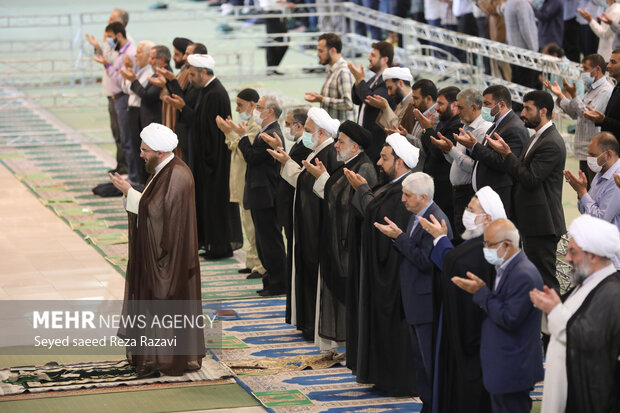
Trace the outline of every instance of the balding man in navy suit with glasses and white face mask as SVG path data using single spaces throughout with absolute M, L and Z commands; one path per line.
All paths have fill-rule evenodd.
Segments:
M 480 359 L 484 386 L 491 394 L 493 413 L 529 413 L 529 392 L 543 379 L 540 310 L 529 301 L 530 290 L 543 281 L 519 249 L 519 232 L 507 219 L 497 219 L 484 231 L 484 257 L 495 265 L 493 285 L 471 272 L 452 282 L 473 294 L 486 313 L 482 322 Z

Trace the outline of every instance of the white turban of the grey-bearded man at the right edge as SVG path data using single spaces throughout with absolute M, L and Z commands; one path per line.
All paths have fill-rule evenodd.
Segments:
M 570 224 L 568 233 L 582 250 L 599 257 L 611 258 L 620 252 L 618 227 L 600 218 L 581 215 Z

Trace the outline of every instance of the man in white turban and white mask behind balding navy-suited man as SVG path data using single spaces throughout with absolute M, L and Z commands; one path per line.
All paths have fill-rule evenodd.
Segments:
M 445 222 L 436 217 L 421 218 L 422 227 L 434 238 L 430 259 L 441 270 L 439 288 L 434 299 L 440 304 L 441 322 L 435 352 L 438 365 L 435 374 L 438 386 L 434 389 L 438 405 L 434 412 L 459 411 L 461 406 L 471 406 L 472 412 L 489 412 L 489 394 L 482 383 L 480 362 L 480 336 L 484 313 L 474 304 L 471 295 L 451 281 L 457 276 L 467 278 L 471 271 L 487 285 L 493 285 L 495 267 L 488 264 L 483 254 L 483 234 L 487 226 L 506 218 L 499 195 L 485 186 L 471 198 L 463 213 L 464 240 L 456 247 L 448 239 Z

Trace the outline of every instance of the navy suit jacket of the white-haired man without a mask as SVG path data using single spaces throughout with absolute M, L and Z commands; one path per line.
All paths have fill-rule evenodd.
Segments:
M 452 238 L 450 221 L 434 202 L 429 205 L 423 216 L 430 219 L 431 214 L 439 222 L 442 219 L 446 221 L 448 237 Z M 394 243 L 404 257 L 400 263 L 400 288 L 405 317 L 409 324 L 424 324 L 433 322 L 432 292 L 435 267 L 430 259 L 433 236 L 426 232 L 419 223 L 413 234 L 409 236 L 416 220 L 416 215 L 412 214 L 407 231 L 400 234 Z

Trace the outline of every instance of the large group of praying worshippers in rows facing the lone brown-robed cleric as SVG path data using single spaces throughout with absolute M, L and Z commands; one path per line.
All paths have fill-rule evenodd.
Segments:
M 594 80 L 583 98 L 549 85 L 577 118 L 587 170 L 572 173 L 551 93 L 527 93 L 517 113 L 501 85 L 438 89 L 394 66 L 387 42 L 373 44 L 367 75 L 326 33 L 326 80 L 305 94 L 320 107 L 284 113 L 275 96 L 243 89 L 235 121 L 204 45 L 174 39 L 175 74 L 167 47 L 134 47 L 123 16 L 112 13 L 103 45 L 89 38 L 119 135 L 116 172 L 137 194 L 140 157 L 163 159 L 178 137 L 204 255 L 230 256 L 243 225 L 240 271 L 262 279 L 259 295 L 286 294 L 286 322 L 304 338 L 346 345 L 360 383 L 419 395 L 424 412 L 529 412 L 544 374 L 543 412 L 617 411 L 620 86 L 604 73 L 620 79 L 620 51 L 608 65 L 584 59 Z M 152 123 L 175 144 L 141 143 Z M 568 230 L 572 288 L 561 300 L 564 179 L 583 215 Z

